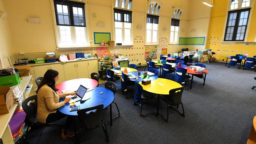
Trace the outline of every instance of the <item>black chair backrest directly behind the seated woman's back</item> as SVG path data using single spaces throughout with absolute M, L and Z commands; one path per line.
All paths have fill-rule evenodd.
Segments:
M 22 108 L 26 113 L 26 120 L 30 123 L 36 123 L 35 118 L 37 117 L 37 95 L 30 96 L 22 102 Z

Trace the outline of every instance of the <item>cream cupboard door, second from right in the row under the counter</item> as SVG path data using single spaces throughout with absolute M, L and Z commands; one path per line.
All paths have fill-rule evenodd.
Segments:
M 87 70 L 87 61 L 76 62 L 77 78 L 89 78 Z

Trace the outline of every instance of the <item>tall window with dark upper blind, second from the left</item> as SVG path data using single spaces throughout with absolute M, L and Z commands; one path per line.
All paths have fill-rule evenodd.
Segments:
M 132 44 L 132 11 L 114 9 L 115 43 Z

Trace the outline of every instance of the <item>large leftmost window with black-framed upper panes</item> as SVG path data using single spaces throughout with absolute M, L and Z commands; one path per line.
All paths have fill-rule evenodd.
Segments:
M 54 0 L 58 47 L 88 46 L 84 3 Z

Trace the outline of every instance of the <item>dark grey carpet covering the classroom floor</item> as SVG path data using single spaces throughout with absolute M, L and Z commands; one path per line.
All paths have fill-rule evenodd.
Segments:
M 194 77 L 193 88 L 184 90 L 182 102 L 185 117 L 169 109 L 169 122 L 160 116 L 139 116 L 140 107 L 133 105 L 134 87 L 128 92 L 117 92 L 115 102 L 121 116 L 107 126 L 109 144 L 246 144 L 256 115 L 256 72 L 236 67 L 225 67 L 224 63 L 206 65 L 209 71 L 206 85 L 199 85 L 202 79 Z M 144 70 L 144 68 L 138 68 Z M 187 83 L 189 87 L 190 81 Z M 121 87 L 120 80 L 117 82 Z M 104 84 L 100 84 L 104 87 Z M 143 113 L 156 109 L 156 100 L 148 100 Z M 160 101 L 160 113 L 166 117 L 166 104 Z M 113 105 L 113 116 L 117 109 Z M 104 111 L 104 121 L 109 121 L 109 108 Z M 65 119 L 60 120 L 65 121 Z M 78 120 L 76 120 L 79 125 Z M 32 144 L 71 144 L 75 138 L 62 140 L 60 126 L 48 126 L 28 133 Z M 102 127 L 80 133 L 82 144 L 107 143 Z

